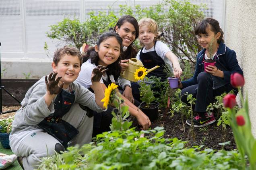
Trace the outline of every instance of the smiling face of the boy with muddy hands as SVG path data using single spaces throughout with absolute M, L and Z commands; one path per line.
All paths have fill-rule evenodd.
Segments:
M 62 76 L 60 83 L 64 82 L 63 88 L 68 88 L 68 85 L 78 77 L 81 70 L 80 60 L 76 55 L 64 54 L 57 66 L 54 62 L 52 63 L 52 70 L 58 72 L 57 77 Z

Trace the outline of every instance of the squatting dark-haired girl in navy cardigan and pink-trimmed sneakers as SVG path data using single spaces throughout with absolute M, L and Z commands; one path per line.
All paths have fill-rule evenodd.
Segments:
M 188 92 L 196 98 L 194 111 L 198 113 L 193 119 L 194 127 L 204 127 L 214 123 L 214 113 L 207 113 L 206 108 L 213 103 L 215 96 L 234 89 L 230 84 L 230 75 L 237 72 L 243 75 L 235 51 L 229 49 L 223 40 L 223 31 L 219 22 L 213 18 L 206 18 L 195 28 L 198 43 L 203 48 L 196 57 L 196 70 L 194 76 L 179 82 L 182 88 L 182 101 L 187 102 Z M 215 66 L 207 66 L 204 71 L 204 60 L 211 58 Z M 237 89 L 234 89 L 237 91 Z M 186 123 L 191 125 L 191 120 Z

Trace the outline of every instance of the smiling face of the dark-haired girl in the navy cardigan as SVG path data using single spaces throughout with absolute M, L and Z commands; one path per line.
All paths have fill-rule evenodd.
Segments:
M 210 45 L 211 45 L 211 41 L 212 44 L 214 46 L 217 45 L 217 40 L 219 39 L 220 37 L 220 33 L 217 33 L 215 34 L 213 31 L 211 31 L 210 29 L 211 26 L 208 26 L 206 28 L 206 33 L 203 34 L 203 33 L 200 33 L 198 36 L 198 43 L 201 45 L 202 48 L 206 48 L 206 49 L 209 49 Z

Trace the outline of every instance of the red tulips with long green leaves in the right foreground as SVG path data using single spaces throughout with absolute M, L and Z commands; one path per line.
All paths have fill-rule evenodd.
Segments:
M 252 127 L 249 116 L 249 106 L 248 106 L 248 97 L 244 100 L 241 87 L 244 86 L 244 78 L 241 74 L 234 73 L 230 76 L 231 85 L 235 88 L 238 88 L 239 97 L 241 99 L 242 108 L 238 111 L 234 109 L 234 106 L 237 104 L 234 94 L 227 94 L 223 98 L 223 104 L 227 108 L 229 114 L 230 125 L 232 127 L 233 135 L 235 138 L 235 143 L 237 148 L 242 156 L 243 161 L 243 170 L 256 169 L 256 139 L 252 134 Z M 249 167 L 247 166 L 245 156 L 247 156 L 248 161 L 250 162 Z

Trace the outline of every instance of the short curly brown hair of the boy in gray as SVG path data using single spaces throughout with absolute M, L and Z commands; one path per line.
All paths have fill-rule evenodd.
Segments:
M 53 61 L 54 61 L 56 66 L 58 66 L 58 63 L 59 63 L 60 59 L 65 54 L 77 56 L 79 61 L 80 61 L 80 66 L 82 66 L 83 59 L 82 59 L 82 54 L 80 53 L 80 51 L 76 47 L 70 47 L 70 46 L 67 46 L 67 45 L 62 47 L 62 48 L 57 49 L 54 52 Z

